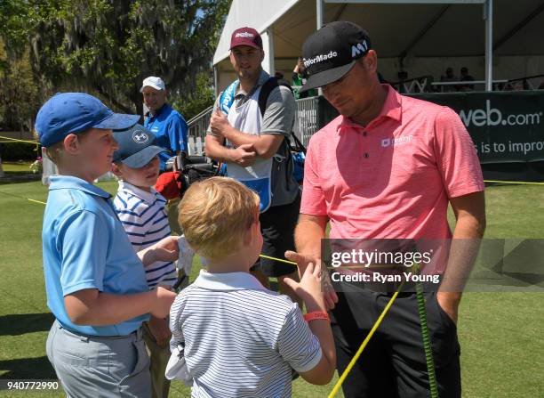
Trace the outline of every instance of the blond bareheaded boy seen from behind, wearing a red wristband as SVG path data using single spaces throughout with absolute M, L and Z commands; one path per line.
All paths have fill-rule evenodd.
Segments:
M 321 270 L 286 279 L 308 309 L 264 288 L 249 272 L 259 258 L 259 196 L 227 177 L 194 183 L 179 206 L 188 244 L 207 271 L 172 305 L 168 378 L 192 384 L 192 397 L 290 397 L 292 370 L 329 383 L 336 366 Z M 306 321 L 305 321 L 306 320 Z

